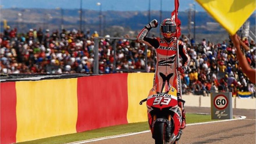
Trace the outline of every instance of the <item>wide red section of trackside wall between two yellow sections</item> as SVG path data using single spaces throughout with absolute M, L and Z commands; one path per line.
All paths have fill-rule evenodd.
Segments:
M 127 124 L 127 75 L 78 78 L 77 132 Z

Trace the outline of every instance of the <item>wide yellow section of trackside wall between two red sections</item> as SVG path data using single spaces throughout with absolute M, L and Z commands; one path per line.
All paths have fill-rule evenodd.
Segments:
M 16 92 L 16 142 L 77 132 L 77 78 L 18 81 Z

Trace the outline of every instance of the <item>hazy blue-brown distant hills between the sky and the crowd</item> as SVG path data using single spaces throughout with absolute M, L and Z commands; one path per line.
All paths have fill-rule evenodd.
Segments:
M 18 16 L 21 13 L 22 16 Z M 162 18 L 170 17 L 170 11 L 163 11 Z M 135 34 L 149 22 L 148 11 L 103 11 L 103 26 L 105 33 L 117 35 L 115 31 Z M 79 9 L 64 9 L 64 28 L 79 29 Z M 30 28 L 60 29 L 61 13 L 56 9 L 20 9 L 10 8 L 1 9 L 1 32 L 3 31 L 3 19 L 6 19 L 8 25 L 19 28 L 19 31 L 25 32 Z M 151 11 L 151 18 L 159 21 L 159 11 Z M 188 12 L 179 12 L 179 19 L 182 23 L 182 33 L 188 33 Z M 248 19 L 251 29 L 255 29 L 255 13 Z M 193 13 L 192 13 L 193 21 Z M 196 33 L 200 34 L 226 34 L 226 31 L 208 15 L 206 12 L 197 12 L 195 16 Z M 113 27 L 114 26 L 114 27 Z M 99 11 L 83 10 L 83 31 L 99 30 Z M 255 30 L 254 30 L 255 31 Z M 122 33 L 123 32 L 123 33 Z M 193 24 L 191 28 L 193 34 Z M 159 28 L 153 29 L 152 34 L 158 35 Z

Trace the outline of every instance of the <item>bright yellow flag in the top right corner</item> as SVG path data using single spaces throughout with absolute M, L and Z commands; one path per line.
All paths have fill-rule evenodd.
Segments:
M 231 35 L 255 10 L 255 0 L 196 0 Z

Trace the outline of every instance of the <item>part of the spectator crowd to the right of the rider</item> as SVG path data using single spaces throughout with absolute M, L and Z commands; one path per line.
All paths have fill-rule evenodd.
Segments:
M 185 37 L 185 36 L 183 36 Z M 184 42 L 188 38 L 182 39 Z M 248 42 L 247 38 L 242 40 L 249 49 L 245 55 L 251 67 L 255 68 L 255 42 Z M 231 40 L 223 41 L 222 44 L 206 42 L 187 42 L 187 49 L 191 57 L 190 70 L 182 75 L 183 88 L 192 90 L 194 94 L 209 94 L 212 92 L 250 91 L 255 93 L 255 86 L 243 74 L 238 65 L 235 47 Z

